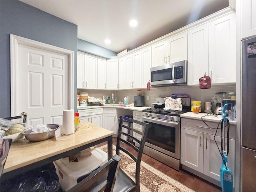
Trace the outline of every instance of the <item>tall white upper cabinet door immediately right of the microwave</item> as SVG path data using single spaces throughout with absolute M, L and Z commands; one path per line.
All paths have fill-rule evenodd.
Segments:
M 198 85 L 208 74 L 209 24 L 188 30 L 188 85 Z

